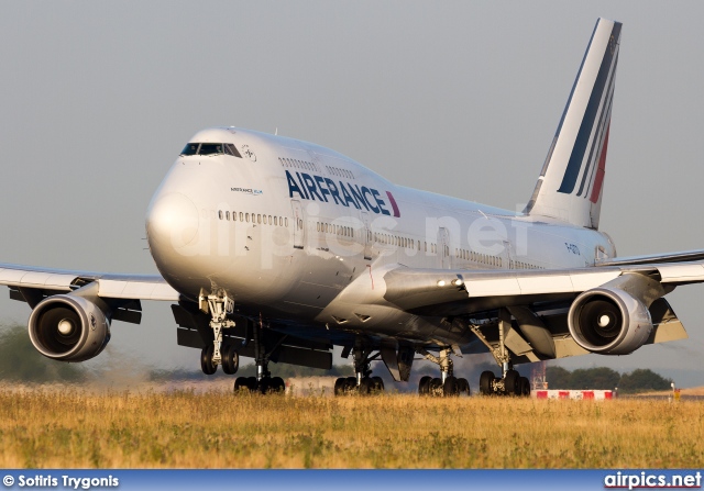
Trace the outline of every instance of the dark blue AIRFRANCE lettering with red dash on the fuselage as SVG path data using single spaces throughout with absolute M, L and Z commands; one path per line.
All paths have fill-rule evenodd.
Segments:
M 370 189 L 366 186 L 360 188 L 358 185 L 343 181 L 336 183 L 327 177 L 311 176 L 306 172 L 296 172 L 296 177 L 294 177 L 288 170 L 286 170 L 286 180 L 288 181 L 288 198 L 294 198 L 294 193 L 296 193 L 304 200 L 318 200 L 326 203 L 332 200 L 342 207 L 350 208 L 352 205 L 358 210 L 364 209 L 383 215 L 392 214 L 387 210 L 391 205 L 394 216 L 400 216 L 398 204 L 396 204 L 391 191 L 386 191 L 387 204 L 376 189 Z

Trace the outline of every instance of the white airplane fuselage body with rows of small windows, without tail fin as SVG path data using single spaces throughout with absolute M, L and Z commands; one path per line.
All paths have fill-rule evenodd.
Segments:
M 150 204 L 150 248 L 184 295 L 223 289 L 249 315 L 428 338 L 439 319 L 384 301 L 388 268 L 582 268 L 615 256 L 597 231 L 399 187 L 314 144 L 240 129 L 191 142 L 241 156 L 176 159 Z

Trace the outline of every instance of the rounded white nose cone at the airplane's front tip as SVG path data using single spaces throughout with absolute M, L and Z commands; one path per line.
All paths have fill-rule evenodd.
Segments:
M 146 236 L 152 254 L 184 252 L 198 234 L 198 209 L 186 196 L 169 192 L 154 199 L 146 213 Z

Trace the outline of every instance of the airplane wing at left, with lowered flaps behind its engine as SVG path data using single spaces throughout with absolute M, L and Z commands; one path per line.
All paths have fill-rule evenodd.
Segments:
M 0 264 L 0 284 L 10 287 L 10 298 L 32 309 L 50 295 L 97 283 L 97 295 L 113 309 L 112 319 L 139 324 L 140 300 L 176 302 L 179 293 L 161 276 L 116 275 L 91 271 L 36 268 Z

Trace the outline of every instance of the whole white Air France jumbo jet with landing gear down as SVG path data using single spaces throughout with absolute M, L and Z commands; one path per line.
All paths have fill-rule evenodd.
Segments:
M 419 392 L 470 384 L 452 357 L 491 353 L 483 394 L 530 392 L 517 365 L 629 354 L 686 333 L 664 295 L 704 281 L 704 250 L 617 258 L 598 231 L 622 24 L 598 20 L 532 198 L 510 212 L 396 186 L 321 146 L 238 127 L 185 146 L 146 213 L 162 276 L 0 265 L 0 284 L 32 308 L 43 355 L 90 359 L 112 321 L 139 323 L 141 300 L 172 303 L 179 345 L 206 373 L 257 376 L 234 388 L 283 389 L 270 362 L 330 368 L 333 346 L 356 377 L 336 393 L 383 390 L 381 358 L 408 381 L 416 355 L 439 367 Z

